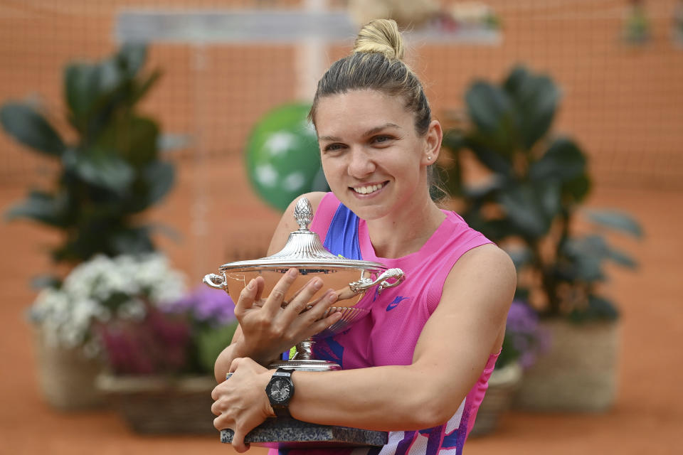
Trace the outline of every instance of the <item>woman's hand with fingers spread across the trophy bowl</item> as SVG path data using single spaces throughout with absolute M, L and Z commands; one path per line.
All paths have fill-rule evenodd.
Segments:
M 280 353 L 341 319 L 342 314 L 338 312 L 321 319 L 329 306 L 337 301 L 333 289 L 311 301 L 323 284 L 318 277 L 297 291 L 287 306 L 282 308 L 285 294 L 298 273 L 297 269 L 289 269 L 265 300 L 261 298 L 265 287 L 263 277 L 251 280 L 243 289 L 235 305 L 235 317 L 242 331 L 240 338 L 235 341 L 240 345 L 236 352 L 258 363 L 268 363 Z M 304 311 L 309 304 L 312 307 Z

